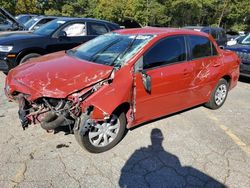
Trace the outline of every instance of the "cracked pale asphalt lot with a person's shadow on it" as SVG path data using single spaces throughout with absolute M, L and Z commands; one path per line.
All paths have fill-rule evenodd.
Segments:
M 90 154 L 72 134 L 23 131 L 0 73 L 0 187 L 249 187 L 250 80 L 224 106 L 197 107 L 129 131 Z

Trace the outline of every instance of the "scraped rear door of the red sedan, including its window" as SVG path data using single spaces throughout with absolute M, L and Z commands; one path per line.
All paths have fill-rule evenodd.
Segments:
M 187 36 L 190 63 L 194 65 L 190 97 L 193 105 L 205 102 L 213 91 L 222 68 L 222 58 L 207 37 Z

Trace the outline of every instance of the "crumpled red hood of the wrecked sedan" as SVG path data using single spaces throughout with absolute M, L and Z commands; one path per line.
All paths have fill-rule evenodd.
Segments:
M 12 92 L 30 94 L 33 100 L 39 97 L 65 98 L 108 78 L 112 69 L 111 66 L 57 52 L 17 66 L 9 72 L 6 83 Z

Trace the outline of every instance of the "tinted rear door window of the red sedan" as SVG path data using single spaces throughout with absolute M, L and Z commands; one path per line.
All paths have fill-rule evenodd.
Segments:
M 190 46 L 191 57 L 193 59 L 212 55 L 211 42 L 206 37 L 189 36 L 189 46 Z

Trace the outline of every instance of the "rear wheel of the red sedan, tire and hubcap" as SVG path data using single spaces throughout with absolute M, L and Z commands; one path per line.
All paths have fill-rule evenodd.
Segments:
M 226 101 L 228 90 L 229 83 L 223 78 L 220 79 L 205 106 L 212 110 L 220 108 Z

